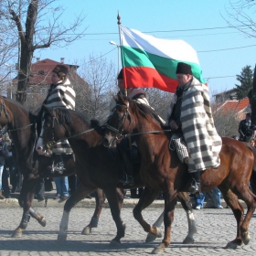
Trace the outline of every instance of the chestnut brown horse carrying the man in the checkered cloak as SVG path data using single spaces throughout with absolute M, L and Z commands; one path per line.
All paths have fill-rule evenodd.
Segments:
M 177 192 L 187 191 L 191 177 L 187 173 L 187 165 L 182 164 L 175 152 L 168 148 L 169 139 L 152 109 L 144 104 L 131 101 L 122 95 L 115 97 L 116 107 L 108 121 L 104 144 L 110 145 L 118 136 L 133 133 L 142 157 L 140 175 L 148 187 L 160 187 L 165 194 L 165 237 L 154 253 L 165 251 L 170 244 L 171 224 L 174 220 L 175 199 Z M 156 131 L 156 132 L 154 132 Z M 157 132 L 159 131 L 159 132 Z M 137 135 L 136 135 L 137 134 Z M 219 187 L 225 201 L 232 209 L 237 220 L 237 236 L 229 241 L 228 248 L 236 248 L 242 242 L 248 244 L 248 232 L 251 216 L 256 207 L 256 197 L 249 189 L 249 182 L 254 164 L 254 155 L 245 144 L 231 138 L 222 138 L 219 154 L 219 169 L 208 169 L 201 173 L 202 191 Z M 248 207 L 245 219 L 240 197 Z M 135 219 L 150 231 L 144 221 L 140 209 L 133 210 Z

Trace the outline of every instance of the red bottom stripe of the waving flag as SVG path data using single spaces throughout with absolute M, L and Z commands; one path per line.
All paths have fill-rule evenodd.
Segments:
M 177 81 L 147 67 L 123 68 L 125 88 L 157 88 L 162 91 L 175 92 Z

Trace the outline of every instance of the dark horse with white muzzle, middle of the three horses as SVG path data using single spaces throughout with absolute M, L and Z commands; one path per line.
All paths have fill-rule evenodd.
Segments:
M 40 134 L 41 141 L 37 142 L 38 150 L 45 150 L 47 144 L 52 144 L 49 140 L 60 141 L 66 137 L 76 157 L 76 166 L 82 173 L 77 175 L 80 178 L 80 184 L 83 190 L 77 189 L 76 197 L 85 197 L 85 191 L 89 194 L 95 187 L 101 187 L 106 194 L 110 208 L 112 211 L 112 219 L 117 228 L 117 235 L 112 240 L 112 244 L 119 244 L 124 236 L 124 225 L 120 217 L 121 208 L 118 206 L 115 187 L 131 188 L 123 186 L 119 183 L 122 176 L 123 165 L 118 161 L 115 149 L 110 150 L 102 145 L 102 130 L 101 126 L 95 121 L 89 120 L 86 116 L 79 112 L 74 112 L 66 109 L 49 109 L 45 107 L 43 115 L 42 131 Z M 54 143 L 53 143 L 54 144 Z M 140 176 L 134 177 L 134 187 L 143 187 L 144 183 Z M 144 208 L 149 206 L 160 193 L 161 187 L 152 189 L 145 187 L 141 198 L 144 198 Z M 196 232 L 196 225 L 192 213 L 190 198 L 187 193 L 179 193 L 183 208 L 187 211 L 188 219 L 188 235 L 184 240 L 186 243 L 194 242 L 193 235 Z M 141 201 L 141 199 L 140 199 Z M 139 203 L 140 205 L 140 203 Z M 59 238 L 66 238 L 68 229 L 69 211 L 64 209 L 63 216 L 59 225 Z M 158 219 L 154 224 L 154 228 L 150 230 L 150 234 L 154 237 L 160 237 L 160 230 L 156 223 L 160 223 Z

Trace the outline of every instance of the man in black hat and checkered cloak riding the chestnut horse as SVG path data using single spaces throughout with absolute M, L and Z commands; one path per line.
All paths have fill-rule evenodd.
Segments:
M 192 74 L 191 66 L 179 62 L 178 87 L 171 100 L 167 123 L 184 136 L 189 157 L 185 160 L 192 174 L 191 193 L 200 192 L 200 172 L 219 166 L 221 138 L 216 131 L 209 104 L 208 87 Z

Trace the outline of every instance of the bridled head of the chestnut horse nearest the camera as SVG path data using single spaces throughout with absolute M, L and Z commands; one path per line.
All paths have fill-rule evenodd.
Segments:
M 116 105 L 104 131 L 103 144 L 107 147 L 114 147 L 116 142 L 123 138 L 123 134 L 133 132 L 133 119 L 129 111 L 133 102 L 120 93 L 113 98 Z

